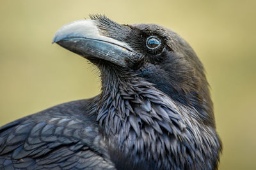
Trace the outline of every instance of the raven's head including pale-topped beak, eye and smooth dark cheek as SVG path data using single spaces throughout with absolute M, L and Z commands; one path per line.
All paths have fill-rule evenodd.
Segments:
M 90 17 L 61 27 L 53 43 L 90 60 L 102 81 L 140 77 L 173 101 L 198 110 L 202 122 L 214 127 L 204 67 L 184 39 L 156 24 L 121 25 L 102 15 Z

